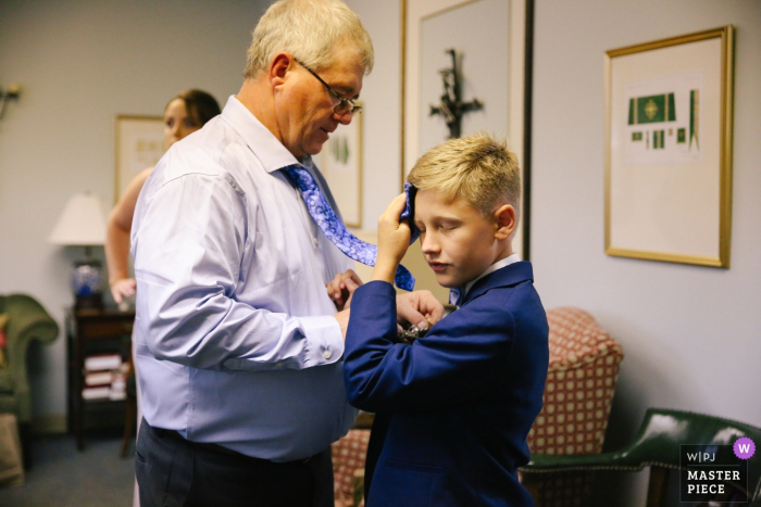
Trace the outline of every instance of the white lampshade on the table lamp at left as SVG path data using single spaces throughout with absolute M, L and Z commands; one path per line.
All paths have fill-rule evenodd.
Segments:
M 72 195 L 48 242 L 85 246 L 104 244 L 105 215 L 100 199 L 90 192 Z

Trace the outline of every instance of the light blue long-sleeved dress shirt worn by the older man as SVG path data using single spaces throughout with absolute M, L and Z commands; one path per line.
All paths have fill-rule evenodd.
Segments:
M 288 461 L 326 449 L 353 423 L 325 289 L 353 263 L 278 170 L 296 163 L 230 97 L 146 181 L 132 254 L 136 362 L 152 427 Z M 311 160 L 304 166 L 330 195 Z

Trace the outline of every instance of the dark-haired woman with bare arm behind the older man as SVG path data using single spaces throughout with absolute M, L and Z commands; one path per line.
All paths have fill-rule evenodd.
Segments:
M 220 114 L 220 104 L 209 93 L 190 89 L 180 91 L 164 109 L 164 143 L 166 150 L 188 134 L 200 129 Z M 135 294 L 135 279 L 129 277 L 129 232 L 137 197 L 153 167 L 141 170 L 129 182 L 109 214 L 105 232 L 105 262 L 109 266 L 109 286 L 116 304 Z

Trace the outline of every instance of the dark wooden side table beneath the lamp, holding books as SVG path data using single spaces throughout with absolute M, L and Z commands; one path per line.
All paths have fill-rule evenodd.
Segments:
M 118 352 L 129 358 L 135 312 L 117 309 L 71 309 L 66 315 L 68 343 L 68 427 L 76 435 L 77 449 L 85 448 L 85 413 L 96 405 L 122 405 L 124 401 L 85 401 L 85 357 L 98 352 Z

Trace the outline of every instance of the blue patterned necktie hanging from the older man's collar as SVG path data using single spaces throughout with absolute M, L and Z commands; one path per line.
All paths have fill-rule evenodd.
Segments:
M 338 250 L 354 261 L 367 266 L 375 266 L 378 248 L 374 244 L 365 243 L 346 229 L 346 226 L 336 216 L 310 172 L 300 165 L 289 165 L 284 167 L 283 170 L 288 176 L 288 179 L 301 190 L 309 214 L 312 215 L 314 221 L 325 232 L 327 239 L 338 246 Z M 399 268 L 397 268 L 397 276 L 394 281 L 399 289 L 404 289 L 406 291 L 411 291 L 415 287 L 414 277 L 402 265 L 399 265 Z

